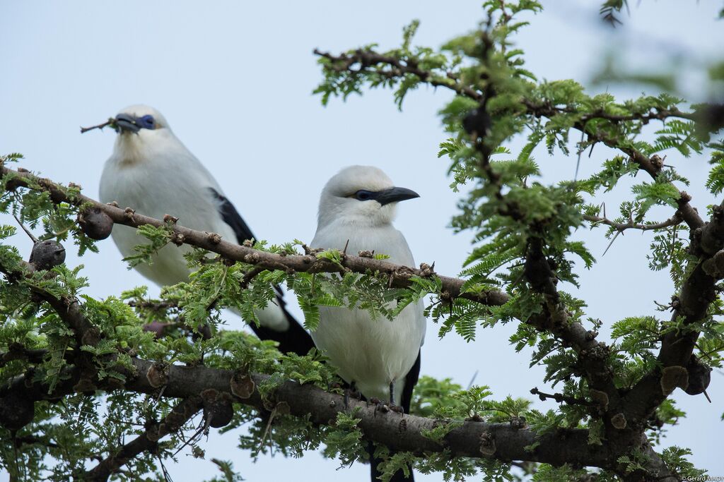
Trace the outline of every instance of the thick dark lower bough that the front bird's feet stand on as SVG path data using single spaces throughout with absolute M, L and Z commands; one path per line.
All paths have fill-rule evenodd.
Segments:
M 125 387 L 118 390 L 129 390 L 138 393 L 159 395 L 187 399 L 195 397 L 204 390 L 216 390 L 234 397 L 237 403 L 250 405 L 259 410 L 268 410 L 269 400 L 262 400 L 256 388 L 248 393 L 240 393 L 236 380 L 238 374 L 233 371 L 211 369 L 205 366 L 169 366 L 164 371 L 166 383 L 161 387 L 152 383 L 146 374 L 154 369 L 154 363 L 132 358 L 137 375 L 128 374 Z M 59 395 L 71 393 L 73 376 L 59 383 L 52 394 L 47 393 L 47 386 L 40 382 L 30 382 L 24 376 L 18 376 L 7 386 L 0 388 L 0 397 L 5 390 L 25 390 L 28 396 L 35 400 L 53 400 Z M 255 387 L 266 382 L 268 375 L 251 374 Z M 15 387 L 15 388 L 12 388 Z M 101 387 L 103 388 L 103 387 Z M 244 397 L 239 397 L 243 395 Z M 247 396 L 248 395 L 248 396 Z M 300 385 L 297 382 L 284 382 L 274 391 L 274 404 L 285 404 L 292 416 L 308 417 L 313 423 L 319 425 L 333 424 L 337 413 L 345 410 L 345 400 L 342 395 L 325 392 L 311 385 Z M 576 465 L 591 465 L 607 467 L 615 460 L 607 447 L 589 445 L 587 443 L 588 431 L 583 429 L 560 429 L 549 434 L 539 435 L 530 429 L 516 428 L 511 423 L 484 423 L 476 421 L 459 422 L 459 426 L 451 429 L 442 443 L 427 438 L 426 431 L 434 429 L 441 423 L 432 418 L 403 415 L 393 410 L 383 411 L 379 405 L 372 403 L 349 401 L 349 410 L 361 418 L 359 423 L 365 437 L 374 442 L 385 444 L 396 451 L 410 451 L 417 455 L 429 452 L 450 450 L 451 455 L 462 457 L 494 457 L 499 460 L 531 460 L 534 462 L 547 462 L 554 465 L 575 463 Z M 187 412 L 188 413 L 188 412 Z M 134 441 L 137 444 L 146 443 Z M 526 449 L 531 445 L 538 445 L 535 449 Z M 133 442 L 132 442 L 133 443 Z M 138 447 L 138 446 L 134 446 Z M 130 452 L 124 452 L 130 453 Z M 137 452 L 140 453 L 140 452 Z M 119 457 L 115 455 L 114 457 Z

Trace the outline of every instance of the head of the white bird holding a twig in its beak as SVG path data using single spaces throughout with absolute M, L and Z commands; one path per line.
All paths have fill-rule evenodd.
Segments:
M 115 151 L 125 162 L 135 162 L 143 152 L 173 138 L 164 116 L 149 106 L 130 106 L 114 118 L 118 133 Z

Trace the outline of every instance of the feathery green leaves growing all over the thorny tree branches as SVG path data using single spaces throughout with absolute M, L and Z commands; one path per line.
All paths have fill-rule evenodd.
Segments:
M 615 23 L 623 7 L 627 7 L 626 0 L 607 0 L 602 5 L 602 16 Z M 600 413 L 590 409 L 592 392 L 581 369 L 581 355 L 560 337 L 560 330 L 574 323 L 592 324 L 592 330 L 603 326 L 603 322 L 588 316 L 584 301 L 566 291 L 571 285 L 578 286 L 582 268 L 591 269 L 597 263 L 586 244 L 573 237 L 574 233 L 585 223 L 591 223 L 592 228 L 607 225 L 605 236 L 613 241 L 621 230 L 612 223 L 652 225 L 652 212 L 668 212 L 668 217 L 674 214 L 682 198 L 679 186 L 689 181 L 668 165 L 648 178 L 637 163 L 641 158 L 653 164 L 654 155 L 662 154 L 659 159 L 663 163 L 667 154 L 688 158 L 706 151 L 711 163 L 706 185 L 712 194 L 720 194 L 724 191 L 724 143 L 715 138 L 717 132 L 712 132 L 712 127 L 692 121 L 696 117 L 684 112 L 684 101 L 672 95 L 617 100 L 607 92 L 589 92 L 572 79 L 539 81 L 526 69 L 523 52 L 515 47 L 515 34 L 527 25 L 525 19 L 541 11 L 541 5 L 531 0 L 488 0 L 483 8 L 487 21 L 439 49 L 415 45 L 419 22 L 413 21 L 403 28 L 397 48 L 377 52 L 376 45 L 369 44 L 342 56 L 321 56 L 324 79 L 314 92 L 326 105 L 332 97 L 346 99 L 352 94 L 362 95 L 368 88 L 383 87 L 392 90 L 398 108 L 402 108 L 408 92 L 421 85 L 455 92 L 439 111 L 445 140 L 439 145 L 438 156 L 447 159 L 450 187 L 460 192 L 459 211 L 451 226 L 455 231 L 473 234 L 471 252 L 460 271 L 465 278 L 461 291 L 477 295 L 502 291 L 508 295 L 507 302 L 487 306 L 451 298 L 435 275 L 414 276 L 408 288 L 391 289 L 387 275 L 345 270 L 342 253 L 337 250 L 321 251 L 316 257 L 336 265 L 338 272 L 300 273 L 258 272 L 252 264 L 219 262 L 222 260 L 205 251 L 189 249 L 186 259 L 193 274 L 186 283 L 165 287 L 159 300 L 148 300 L 145 288 L 96 299 L 84 294 L 87 280 L 81 274 L 82 267 L 61 265 L 48 272 L 30 273 L 18 249 L 7 241 L 17 229 L 0 226 L 0 268 L 10 273 L 0 279 L 0 351 L 9 353 L 17 346 L 43 350 L 42 356 L 32 360 L 8 357 L 0 364 L 0 382 L 7 384 L 14 377 L 27 375 L 45 383 L 52 392 L 70 379 L 79 360 L 87 359 L 93 367 L 90 383 L 122 384 L 132 373 L 133 356 L 166 364 L 203 364 L 214 369 L 265 374 L 257 388 L 267 410 L 260 416 L 248 405 L 235 403 L 232 422 L 222 431 L 245 427 L 238 446 L 253 457 L 271 452 L 301 457 L 305 451 L 322 449 L 326 457 L 347 466 L 367 457 L 367 442 L 355 413 L 339 413 L 331 426 L 318 426 L 308 418 L 288 415 L 274 397 L 280 384 L 288 380 L 340 391 L 334 388 L 340 382 L 334 368 L 316 351 L 306 356 L 283 356 L 273 342 L 229 330 L 220 310 L 230 307 L 245 322 L 258 323 L 258 310 L 274 302 L 278 285 L 286 285 L 298 298 L 305 326 L 315 330 L 320 310 L 359 309 L 369 312 L 373 322 L 388 322 L 411 304 L 422 304 L 432 296 L 425 312 L 439 324 L 440 337 L 455 332 L 471 342 L 479 329 L 514 322 L 510 336 L 513 348 L 531 348 L 531 366 L 544 366 L 544 382 L 559 387 L 568 400 L 580 403 L 538 410 L 523 398 L 508 395 L 496 399 L 488 387 L 462 390 L 450 379 L 422 376 L 411 411 L 437 420 L 425 436 L 442 442 L 451 429 L 472 419 L 525 424 L 539 435 L 559 429 L 588 429 L 589 444 L 605 444 L 610 427 L 599 418 Z M 616 69 L 612 61 L 604 73 L 626 78 Z M 712 79 L 721 78 L 721 70 L 720 66 L 712 68 Z M 636 80 L 657 85 L 671 82 L 667 76 L 650 74 Z M 696 106 L 691 108 L 698 110 Z M 476 126 L 474 131 L 479 135 L 473 136 L 463 125 L 476 117 L 484 118 L 484 125 Z M 657 124 L 653 140 L 645 142 L 644 126 L 651 124 Z M 521 149 L 511 147 L 514 139 L 524 140 Z M 571 155 L 580 160 L 597 144 L 612 151 L 607 151 L 607 158 L 588 178 L 578 179 L 577 173 L 556 183 L 544 178 L 544 162 Z M 546 151 L 544 160 L 534 158 L 535 152 Z M 7 155 L 0 158 L 0 164 L 21 158 L 18 154 Z M 633 183 L 620 183 L 636 176 L 639 178 Z M 4 183 L 12 181 L 12 175 L 3 178 Z M 633 185 L 630 193 L 626 191 L 628 199 L 618 207 L 619 214 L 608 220 L 605 205 L 597 196 L 620 189 L 619 184 Z M 79 194 L 75 186 L 59 189 L 70 199 L 77 199 Z M 17 215 L 38 238 L 62 242 L 72 239 L 81 255 L 96 251 L 93 240 L 77 228 L 75 218 L 82 210 L 77 203 L 54 203 L 40 184 L 30 184 L 29 189 L 3 189 L 0 194 L 0 212 Z M 586 221 L 591 218 L 594 221 Z M 670 225 L 652 231 L 649 267 L 668 269 L 675 288 L 681 288 L 699 262 L 689 254 L 689 236 L 683 232 L 688 228 Z M 174 239 L 171 223 L 161 228 L 142 226 L 138 234 L 135 254 L 127 258 L 130 267 L 152 263 L 160 249 L 176 249 L 167 246 Z M 294 241 L 267 246 L 257 241 L 254 248 L 290 255 L 298 254 L 300 244 Z M 536 254 L 531 246 L 538 245 L 541 252 Z M 526 264 L 534 254 L 550 269 L 555 296 L 544 293 L 526 272 Z M 374 258 L 387 256 L 375 254 Z M 99 340 L 90 343 L 79 339 L 57 311 L 33 295 L 39 291 L 77 299 L 85 319 L 98 330 Z M 557 319 L 557 324 L 536 323 L 553 314 L 565 317 Z M 695 326 L 684 326 L 681 319 L 663 322 L 649 315 L 613 323 L 613 343 L 605 360 L 613 383 L 624 393 L 654 369 L 662 335 L 667 332 L 701 332 L 697 358 L 707 366 L 722 366 L 724 328 L 717 320 L 723 314 L 724 304 L 717 300 L 710 305 L 706 319 Z M 148 331 L 154 324 L 164 329 L 156 334 Z M 202 333 L 206 336 L 199 336 Z M 165 397 L 132 395 L 121 390 L 106 395 L 72 395 L 57 403 L 38 402 L 32 423 L 17 434 L 0 430 L 0 463 L 22 480 L 77 478 L 93 458 L 117 451 L 124 439 L 142 434 L 144 426 L 166 416 L 174 403 Z M 647 436 L 660 443 L 663 428 L 684 416 L 672 401 L 665 400 L 655 417 L 647 421 Z M 194 431 L 193 421 L 187 423 L 182 431 L 160 442 L 155 453 L 143 453 L 131 460 L 126 468 L 132 475 L 119 473 L 117 477 L 130 480 L 134 474 L 150 474 L 148 480 L 162 480 L 164 474 L 157 462 L 173 460 L 184 440 L 190 443 L 193 455 L 203 457 L 202 442 L 190 436 Z M 19 440 L 28 442 L 19 447 Z M 533 453 L 538 444 L 534 442 L 526 449 Z M 447 451 L 424 457 L 408 452 L 390 454 L 382 446 L 376 448 L 376 454 L 384 460 L 383 480 L 396 470 L 408 470 L 408 465 L 421 473 L 442 473 L 445 481 L 463 481 L 476 474 L 482 474 L 484 480 L 513 479 L 510 465 L 493 458 L 455 457 Z M 682 476 L 702 473 L 686 461 L 686 455 L 689 451 L 678 447 L 661 453 L 667 465 Z M 48 457 L 56 463 L 50 466 Z M 221 472 L 214 481 L 240 480 L 230 462 L 211 460 Z M 649 457 L 631 452 L 616 462 L 619 475 L 645 472 Z M 533 480 L 573 481 L 588 476 L 586 470 L 570 465 L 554 468 L 541 464 Z M 613 475 L 605 471 L 595 477 L 613 480 Z

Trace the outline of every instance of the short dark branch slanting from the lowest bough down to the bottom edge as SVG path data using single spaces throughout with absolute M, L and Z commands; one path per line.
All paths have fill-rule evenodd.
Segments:
M 198 395 L 193 395 L 182 400 L 164 417 L 163 421 L 153 423 L 153 426 L 149 427 L 143 434 L 140 434 L 131 442 L 125 444 L 114 454 L 98 462 L 98 465 L 88 470 L 80 480 L 93 482 L 107 481 L 111 473 L 114 473 L 123 465 L 127 464 L 133 457 L 140 455 L 142 452 L 153 451 L 159 439 L 179 430 L 183 424 L 193 418 L 201 408 L 203 408 L 203 404 L 201 397 Z

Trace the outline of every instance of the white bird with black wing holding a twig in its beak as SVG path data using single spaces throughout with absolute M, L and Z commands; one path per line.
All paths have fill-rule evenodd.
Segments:
M 117 137 L 101 174 L 102 202 L 117 202 L 151 218 L 176 215 L 179 225 L 217 233 L 238 244 L 258 239 L 214 176 L 176 137 L 159 111 L 130 106 L 114 117 L 112 125 Z M 134 246 L 143 242 L 134 228 L 125 225 L 114 225 L 111 236 L 124 257 L 134 254 Z M 151 264 L 138 264 L 135 269 L 161 286 L 187 281 L 190 269 L 184 254 L 191 249 L 169 244 L 153 254 Z M 249 325 L 261 339 L 277 341 L 283 353 L 306 355 L 313 341 L 287 311 L 282 291 L 275 288 L 276 299 L 255 311 L 260 326 Z

